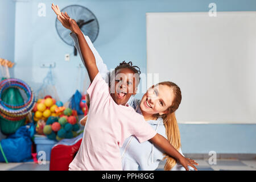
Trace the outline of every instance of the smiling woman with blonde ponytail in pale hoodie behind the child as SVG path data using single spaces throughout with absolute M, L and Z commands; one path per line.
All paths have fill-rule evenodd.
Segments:
M 59 8 L 57 6 L 53 6 L 52 9 L 58 15 L 57 18 L 63 26 L 70 29 L 70 25 L 63 22 L 61 19 Z M 77 51 L 79 51 L 82 59 L 76 35 L 72 35 L 71 37 L 73 38 Z M 93 47 L 88 36 L 85 36 L 85 39 L 90 49 L 92 49 L 101 76 L 108 80 L 108 68 L 103 63 L 96 49 Z M 174 114 L 175 110 L 179 107 L 180 102 L 181 92 L 179 87 L 172 82 L 160 82 L 148 89 L 141 101 L 131 97 L 127 103 L 138 113 L 142 114 L 144 119 L 150 123 L 157 133 L 166 136 L 172 146 L 182 154 L 180 150 L 181 144 L 179 128 Z M 86 117 L 81 119 L 82 124 L 85 125 L 85 122 Z M 139 143 L 133 136 L 126 139 L 125 143 L 120 148 L 120 151 L 123 170 L 155 170 L 158 167 L 160 160 L 163 159 L 163 152 L 156 148 L 152 143 Z M 166 165 L 164 166 L 165 170 L 185 170 L 184 167 L 176 164 L 175 159 L 168 155 L 166 155 L 165 158 L 167 159 Z M 189 168 L 193 169 L 192 167 Z

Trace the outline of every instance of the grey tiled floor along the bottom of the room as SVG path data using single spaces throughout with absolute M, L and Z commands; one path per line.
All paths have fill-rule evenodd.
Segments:
M 199 171 L 256 171 L 256 160 L 217 159 L 217 164 L 210 165 L 207 159 L 197 159 Z M 162 171 L 164 163 L 160 163 L 158 171 Z M 0 163 L 0 171 L 48 171 L 46 164 L 27 163 Z

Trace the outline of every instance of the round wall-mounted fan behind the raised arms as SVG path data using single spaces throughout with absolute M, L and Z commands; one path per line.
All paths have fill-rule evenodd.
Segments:
M 61 12 L 67 12 L 72 19 L 75 19 L 81 31 L 84 33 L 84 35 L 89 36 L 92 42 L 96 40 L 99 32 L 99 25 L 98 20 L 96 16 L 92 13 L 92 11 L 84 6 L 70 5 L 64 7 Z M 64 28 L 57 18 L 55 21 L 55 26 L 60 38 L 69 46 L 74 47 L 74 55 L 76 56 L 77 50 L 75 48 L 73 39 L 71 38 L 71 36 L 69 36 L 69 33 L 71 31 L 67 28 Z

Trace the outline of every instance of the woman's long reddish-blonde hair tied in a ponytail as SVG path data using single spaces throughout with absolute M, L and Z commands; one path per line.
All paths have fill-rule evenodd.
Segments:
M 174 97 L 174 101 L 172 101 L 172 105 L 167 109 L 168 113 L 163 115 L 154 114 L 154 117 L 163 118 L 164 127 L 166 127 L 167 139 L 172 144 L 172 146 L 174 146 L 174 148 L 176 148 L 176 150 L 179 151 L 181 147 L 180 130 L 179 130 L 179 126 L 177 125 L 175 111 L 178 109 L 181 102 L 181 91 L 179 86 L 177 86 L 174 82 L 164 81 L 164 82 L 160 82 L 158 85 L 170 86 L 170 88 L 174 92 L 175 97 Z M 167 154 L 165 154 L 163 159 L 167 159 L 166 164 L 164 166 L 165 171 L 170 171 L 176 164 L 176 160 Z

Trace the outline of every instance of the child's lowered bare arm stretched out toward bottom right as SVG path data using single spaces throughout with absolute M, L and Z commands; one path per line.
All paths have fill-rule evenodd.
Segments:
M 184 158 L 183 155 L 180 154 L 179 151 L 171 145 L 170 142 L 162 135 L 156 134 L 155 137 L 151 138 L 150 141 L 154 143 L 156 146 L 162 148 L 168 155 L 175 158 L 184 168 L 188 171 L 188 166 L 193 167 L 197 170 L 197 168 L 193 164 L 197 164 L 195 160 Z

